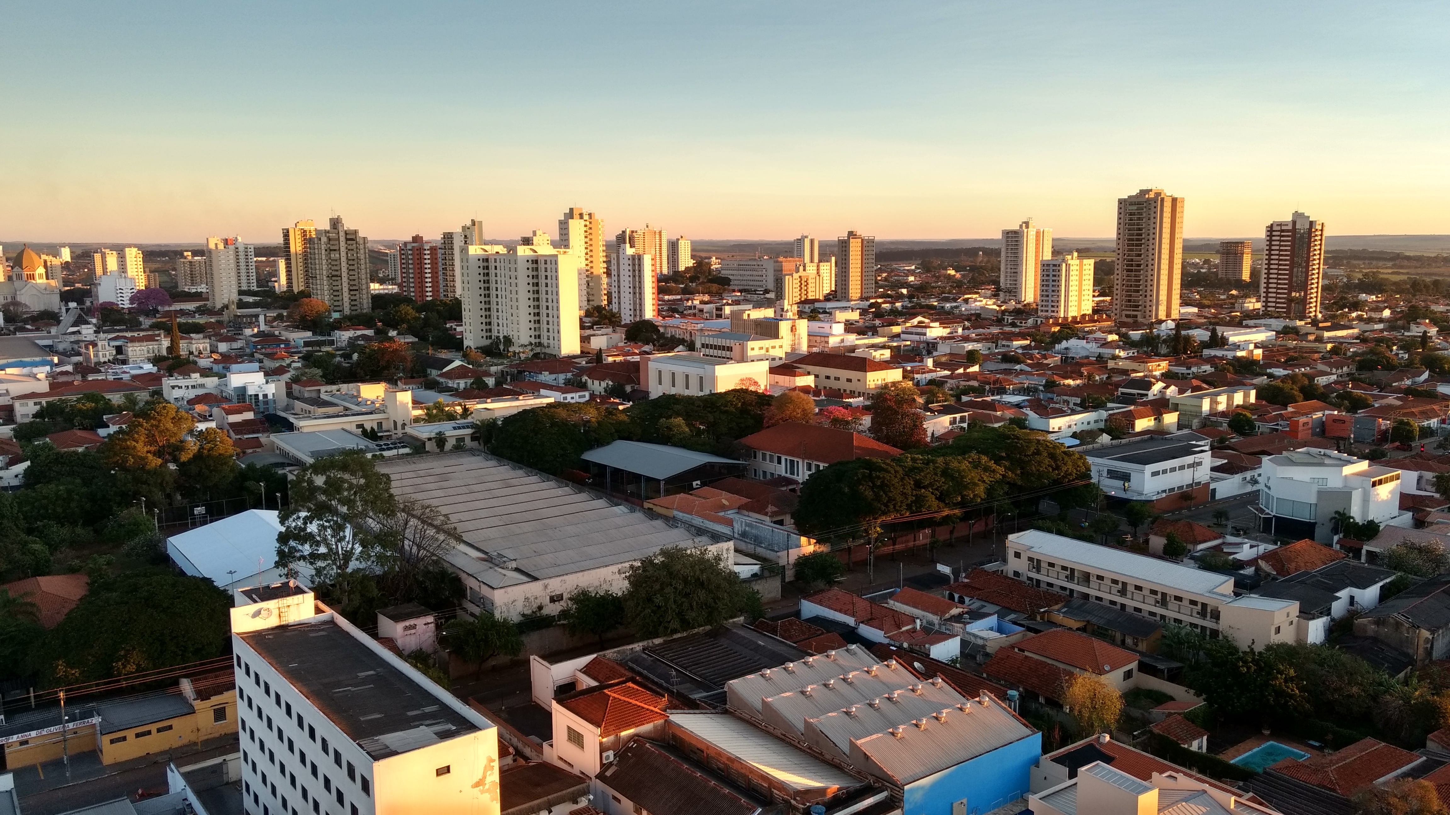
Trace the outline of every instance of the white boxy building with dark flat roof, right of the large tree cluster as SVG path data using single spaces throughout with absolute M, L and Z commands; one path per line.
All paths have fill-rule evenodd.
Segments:
M 1082 451 L 1102 492 L 1128 500 L 1157 500 L 1211 480 L 1209 442 L 1195 432 L 1112 441 Z

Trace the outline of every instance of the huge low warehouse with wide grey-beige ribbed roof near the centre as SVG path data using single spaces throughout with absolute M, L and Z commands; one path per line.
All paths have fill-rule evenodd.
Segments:
M 448 516 L 460 539 L 445 561 L 463 579 L 467 603 L 508 619 L 558 613 L 576 589 L 622 592 L 629 564 L 664 547 L 734 553 L 732 541 L 477 451 L 393 458 L 377 468 L 399 499 Z

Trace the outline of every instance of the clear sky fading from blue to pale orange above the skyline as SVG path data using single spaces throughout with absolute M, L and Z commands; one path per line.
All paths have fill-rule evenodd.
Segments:
M 1450 3 L 6 4 L 0 238 L 1450 232 Z

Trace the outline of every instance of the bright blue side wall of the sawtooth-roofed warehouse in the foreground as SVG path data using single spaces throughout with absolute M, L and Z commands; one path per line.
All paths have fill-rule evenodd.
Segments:
M 956 767 L 927 776 L 902 790 L 902 815 L 953 815 L 966 799 L 967 815 L 982 815 L 1022 798 L 1030 773 L 1043 757 L 1043 734 L 1014 741 Z

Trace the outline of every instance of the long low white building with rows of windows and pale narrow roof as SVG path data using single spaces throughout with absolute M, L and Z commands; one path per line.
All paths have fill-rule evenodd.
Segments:
M 1105 603 L 1240 647 L 1295 642 L 1299 603 L 1234 597 L 1234 579 L 1115 547 L 1028 529 L 1006 537 L 1005 571 L 1038 589 Z M 1260 608 L 1273 606 L 1273 608 Z

